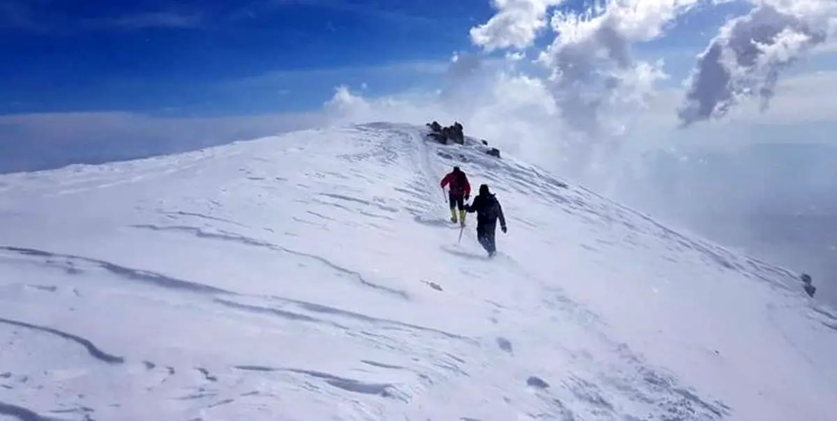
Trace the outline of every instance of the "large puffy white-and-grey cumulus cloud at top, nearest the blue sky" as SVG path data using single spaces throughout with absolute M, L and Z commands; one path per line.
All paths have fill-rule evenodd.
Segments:
M 567 126 L 598 139 L 619 134 L 615 120 L 649 100 L 655 82 L 665 79 L 662 62 L 634 59 L 633 44 L 663 35 L 666 24 L 694 8 L 698 0 L 608 0 L 581 13 L 558 11 L 562 1 L 496 1 L 497 13 L 471 30 L 487 52 L 528 49 L 548 27 L 552 43 L 538 54 L 551 93 Z

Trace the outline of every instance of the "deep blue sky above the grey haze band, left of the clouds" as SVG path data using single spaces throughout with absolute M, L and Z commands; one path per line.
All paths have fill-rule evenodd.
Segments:
M 397 88 L 379 66 L 420 83 L 491 13 L 483 0 L 0 0 L 0 113 L 315 108 L 340 83 Z

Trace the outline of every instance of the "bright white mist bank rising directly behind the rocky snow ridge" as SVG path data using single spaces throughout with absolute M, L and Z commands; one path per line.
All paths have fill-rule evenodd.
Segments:
M 629 85 L 644 91 L 649 79 L 653 78 Z M 596 141 L 580 136 L 563 120 L 548 80 L 490 69 L 487 74 L 470 74 L 463 84 L 464 95 L 438 92 L 379 98 L 342 88 L 329 102 L 330 121 L 436 120 L 444 125 L 461 121 L 470 136 L 625 200 L 638 188 L 624 183 L 647 171 L 649 153 L 672 151 L 690 157 L 707 151 L 732 153 L 760 143 L 828 144 L 834 142 L 830 133 L 837 128 L 837 98 L 822 89 L 837 85 L 837 71 L 780 80 L 771 109 L 762 112 L 757 104 L 744 104 L 724 121 L 687 130 L 678 128 L 675 114 L 685 91 L 655 90 L 646 95 L 645 108 L 632 114 L 619 136 Z

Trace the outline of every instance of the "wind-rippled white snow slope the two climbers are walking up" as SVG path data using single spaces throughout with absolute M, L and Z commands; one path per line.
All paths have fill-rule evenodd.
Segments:
M 495 259 L 446 220 L 453 165 L 506 210 Z M 794 274 L 414 126 L 10 174 L 0 217 L 12 418 L 837 413 L 837 316 Z

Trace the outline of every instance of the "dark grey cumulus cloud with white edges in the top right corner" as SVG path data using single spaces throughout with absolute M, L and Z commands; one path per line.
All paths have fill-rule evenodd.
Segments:
M 681 126 L 726 116 L 753 96 L 767 110 L 779 74 L 837 29 L 837 3 L 831 0 L 759 3 L 727 22 L 698 57 L 678 111 Z

